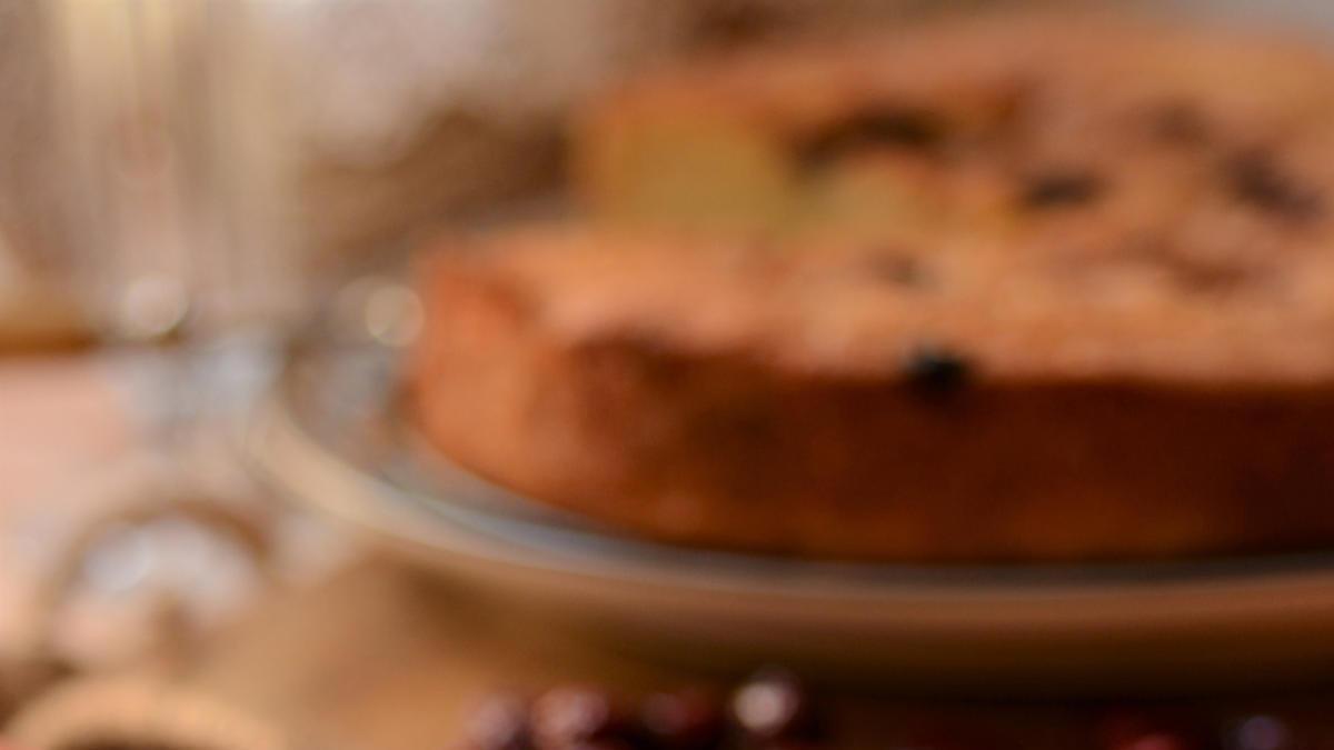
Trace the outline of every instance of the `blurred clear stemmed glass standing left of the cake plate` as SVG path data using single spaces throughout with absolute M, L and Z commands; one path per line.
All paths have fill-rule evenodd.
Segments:
M 307 299 L 273 210 L 284 111 L 248 8 L 43 5 L 65 207 L 60 260 L 147 416 L 144 450 L 132 459 L 143 464 L 129 492 L 139 496 L 95 520 L 56 586 L 60 597 L 79 589 L 87 562 L 81 583 L 92 599 L 151 591 L 151 625 L 177 635 L 216 609 L 223 590 L 235 594 L 231 558 L 268 548 L 255 542 L 268 531 L 229 459 L 225 427 Z M 263 579 L 269 562 L 249 567 Z

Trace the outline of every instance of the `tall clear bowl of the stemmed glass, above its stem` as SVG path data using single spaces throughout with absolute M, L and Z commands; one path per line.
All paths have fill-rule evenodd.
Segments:
M 113 339 L 271 320 L 299 298 L 291 240 L 264 208 L 281 115 L 248 8 L 47 5 L 72 267 Z

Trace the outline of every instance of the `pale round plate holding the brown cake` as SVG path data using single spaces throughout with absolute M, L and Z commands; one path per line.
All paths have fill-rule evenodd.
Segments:
M 395 419 L 396 355 L 293 343 L 245 454 L 427 569 L 675 661 L 922 687 L 1195 689 L 1334 673 L 1334 555 L 1099 566 L 823 563 L 604 532 L 451 468 Z

